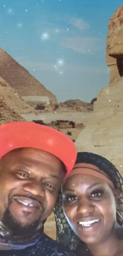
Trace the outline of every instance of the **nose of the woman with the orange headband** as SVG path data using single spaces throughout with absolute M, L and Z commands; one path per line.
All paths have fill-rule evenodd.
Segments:
M 88 199 L 81 199 L 78 201 L 77 214 L 86 217 L 94 211 L 94 205 Z

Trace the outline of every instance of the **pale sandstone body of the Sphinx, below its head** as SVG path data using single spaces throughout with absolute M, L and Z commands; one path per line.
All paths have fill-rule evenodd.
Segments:
M 123 78 L 99 92 L 94 112 L 78 136 L 78 151 L 110 160 L 123 174 Z

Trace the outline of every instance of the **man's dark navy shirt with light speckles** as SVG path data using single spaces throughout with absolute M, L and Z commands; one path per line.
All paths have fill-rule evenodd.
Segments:
M 0 256 L 74 256 L 75 254 L 63 245 L 43 234 L 40 241 L 24 250 L 0 251 Z

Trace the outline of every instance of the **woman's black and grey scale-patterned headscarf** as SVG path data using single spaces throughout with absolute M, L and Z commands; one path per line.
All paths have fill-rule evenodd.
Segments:
M 114 184 L 115 189 L 119 189 L 120 193 L 116 200 L 117 208 L 117 222 L 118 225 L 123 225 L 123 178 L 115 166 L 108 161 L 106 158 L 99 155 L 88 153 L 88 152 L 79 152 L 77 154 L 77 163 L 87 163 L 93 164 L 102 170 L 105 174 L 108 175 L 110 180 Z M 54 207 L 54 214 L 56 219 L 56 239 L 58 242 L 63 243 L 65 246 L 69 247 L 72 251 L 77 249 L 78 244 L 82 243 L 79 238 L 72 231 L 69 226 L 67 219 L 64 216 L 62 208 L 62 195 L 61 191 Z

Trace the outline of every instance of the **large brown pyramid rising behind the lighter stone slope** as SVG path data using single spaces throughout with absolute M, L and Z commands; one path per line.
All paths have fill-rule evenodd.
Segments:
M 7 52 L 0 48 L 0 76 L 20 96 L 48 96 L 57 103 L 56 96 L 36 80 L 24 67 L 17 63 Z

